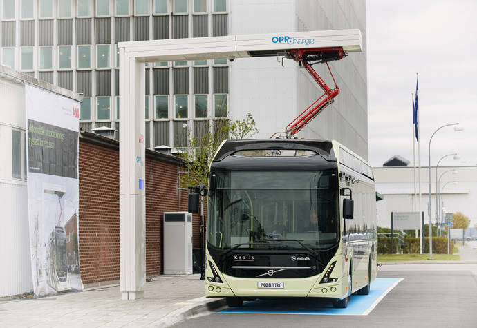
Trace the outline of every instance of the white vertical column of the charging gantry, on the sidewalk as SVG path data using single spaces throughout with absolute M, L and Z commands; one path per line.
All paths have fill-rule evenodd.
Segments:
M 120 48 L 120 72 L 120 290 L 135 300 L 146 282 L 144 63 Z

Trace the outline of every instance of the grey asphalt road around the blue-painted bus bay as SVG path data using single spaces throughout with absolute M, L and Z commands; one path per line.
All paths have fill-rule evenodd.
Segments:
M 477 264 L 383 265 L 382 278 L 404 278 L 367 316 L 214 313 L 174 327 L 477 327 Z M 373 285 L 371 285 L 373 288 Z M 352 296 L 356 297 L 356 296 Z M 296 302 L 277 306 L 293 309 Z M 346 320 L 346 321 L 344 321 Z M 352 320 L 352 321 L 351 321 Z

